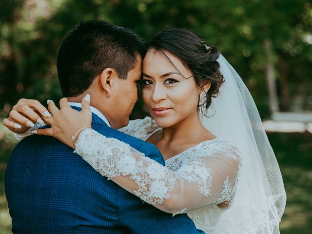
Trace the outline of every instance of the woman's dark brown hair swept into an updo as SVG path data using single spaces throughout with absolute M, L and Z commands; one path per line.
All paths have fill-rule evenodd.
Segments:
M 219 93 L 219 88 L 224 82 L 223 76 L 219 71 L 220 51 L 216 47 L 207 47 L 205 40 L 195 32 L 183 28 L 171 28 L 159 33 L 147 44 L 148 49 L 154 48 L 167 58 L 172 64 L 173 62 L 165 54 L 170 52 L 180 59 L 183 65 L 188 68 L 195 82 L 203 90 L 203 85 L 211 82 L 210 89 L 206 93 L 207 106 L 211 105 L 211 98 L 215 98 Z M 174 67 L 176 67 L 173 64 Z M 178 69 L 176 68 L 178 71 Z M 180 71 L 178 71 L 180 73 Z M 183 74 L 180 73 L 183 78 Z

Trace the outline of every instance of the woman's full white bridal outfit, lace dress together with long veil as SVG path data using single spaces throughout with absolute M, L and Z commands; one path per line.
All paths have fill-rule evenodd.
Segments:
M 76 152 L 143 201 L 187 213 L 209 234 L 279 234 L 286 193 L 277 160 L 247 87 L 222 55 L 217 61 L 225 82 L 201 118 L 216 139 L 167 159 L 166 167 L 91 129 L 81 132 Z M 120 129 L 143 140 L 158 130 L 149 118 Z

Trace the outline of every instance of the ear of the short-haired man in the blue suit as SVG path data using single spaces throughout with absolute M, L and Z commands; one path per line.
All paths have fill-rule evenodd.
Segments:
M 106 92 L 107 98 L 110 98 L 115 92 L 116 79 L 118 79 L 117 72 L 110 67 L 105 68 L 100 74 L 99 82 L 102 89 Z

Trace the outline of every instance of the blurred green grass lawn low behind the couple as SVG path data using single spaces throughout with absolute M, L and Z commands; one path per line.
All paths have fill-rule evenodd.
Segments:
M 287 205 L 280 223 L 281 234 L 312 234 L 312 135 L 268 136 L 279 161 L 287 193 Z M 0 234 L 10 234 L 11 219 L 3 183 L 7 156 L 0 156 Z

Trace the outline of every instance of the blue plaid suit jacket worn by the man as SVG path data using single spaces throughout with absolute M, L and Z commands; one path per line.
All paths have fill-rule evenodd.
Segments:
M 108 127 L 96 115 L 92 128 L 164 165 L 154 145 Z M 53 137 L 20 141 L 7 165 L 5 193 L 15 234 L 203 233 L 187 215 L 172 217 L 143 203 Z

